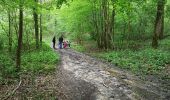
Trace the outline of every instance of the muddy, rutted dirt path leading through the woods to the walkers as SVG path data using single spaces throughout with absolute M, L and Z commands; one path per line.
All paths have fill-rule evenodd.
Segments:
M 166 100 L 156 84 L 83 53 L 57 51 L 61 54 L 56 83 L 59 100 Z

